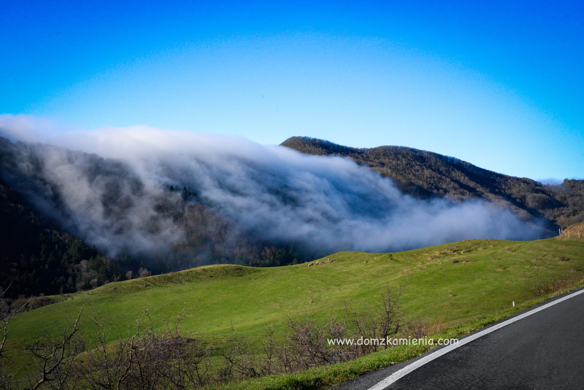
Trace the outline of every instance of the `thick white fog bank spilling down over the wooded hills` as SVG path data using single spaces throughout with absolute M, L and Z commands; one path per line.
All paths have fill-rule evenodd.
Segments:
M 0 145 L 2 179 L 110 256 L 201 245 L 213 234 L 314 256 L 542 234 L 494 203 L 404 195 L 347 158 L 146 126 L 48 134 L 42 122 L 2 116 L 0 130 L 20 140 Z M 201 224 L 213 234 L 193 241 Z

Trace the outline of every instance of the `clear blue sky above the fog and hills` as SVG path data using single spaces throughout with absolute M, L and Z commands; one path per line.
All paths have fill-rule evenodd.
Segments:
M 0 113 L 584 177 L 581 2 L 0 1 Z

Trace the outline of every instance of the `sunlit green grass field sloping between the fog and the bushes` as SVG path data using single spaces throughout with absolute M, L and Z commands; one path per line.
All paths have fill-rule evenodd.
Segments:
M 308 313 L 325 320 L 331 312 L 378 305 L 385 284 L 405 285 L 402 307 L 408 317 L 456 326 L 533 299 L 536 282 L 584 278 L 583 239 L 537 241 L 468 240 L 392 254 L 340 252 L 328 264 L 274 268 L 211 265 L 172 274 L 104 285 L 71 294 L 64 301 L 12 319 L 7 354 L 13 367 L 27 364 L 22 346 L 44 330 L 57 332 L 89 301 L 100 315 L 131 322 L 142 309 L 162 323 L 190 309 L 182 329 L 210 337 L 231 333 L 259 337 L 267 323 Z M 316 261 L 312 262 L 316 263 Z M 91 332 L 89 319 L 81 327 Z M 112 334 L 112 336 L 116 336 Z

